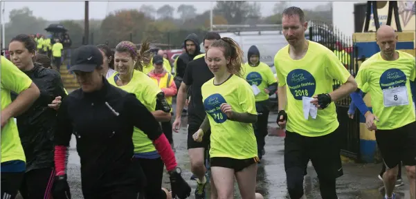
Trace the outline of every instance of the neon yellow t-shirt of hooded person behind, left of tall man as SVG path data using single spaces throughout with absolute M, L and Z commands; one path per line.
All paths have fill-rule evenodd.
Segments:
M 269 65 L 264 64 L 260 61 L 258 66 L 250 66 L 248 62 L 244 64 L 244 79 L 247 80 L 248 84 L 255 84 L 260 93 L 255 95 L 255 102 L 264 101 L 269 99 L 269 94 L 264 92 L 264 88 L 269 87 L 270 84 L 278 82 L 271 71 Z

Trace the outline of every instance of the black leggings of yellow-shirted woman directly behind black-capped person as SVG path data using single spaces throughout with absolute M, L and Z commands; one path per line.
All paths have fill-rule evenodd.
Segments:
M 140 163 L 145 176 L 146 186 L 144 190 L 145 199 L 164 199 L 166 198 L 165 191 L 162 190 L 162 178 L 164 164 L 161 158 L 145 159 L 136 158 Z M 141 198 L 143 198 L 141 196 Z

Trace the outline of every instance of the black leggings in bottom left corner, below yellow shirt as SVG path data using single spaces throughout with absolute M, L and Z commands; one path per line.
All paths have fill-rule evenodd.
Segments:
M 24 172 L 1 173 L 1 198 L 14 199 L 19 191 Z M 26 199 L 26 198 L 25 198 Z

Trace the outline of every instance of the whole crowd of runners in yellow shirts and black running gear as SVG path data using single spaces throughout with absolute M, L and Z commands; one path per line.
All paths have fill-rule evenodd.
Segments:
M 385 164 L 379 176 L 383 198 L 395 198 L 404 164 L 415 199 L 415 57 L 395 49 L 395 30 L 377 30 L 381 52 L 364 61 L 353 77 L 332 51 L 305 39 L 307 22 L 300 8 L 283 11 L 282 28 L 288 45 L 275 55 L 277 79 L 255 46 L 244 55 L 233 39 L 208 32 L 205 54 L 199 53 L 197 35 L 185 39 L 176 77 L 147 41 L 139 49 L 121 41 L 114 53 L 103 44 L 77 48 L 69 69 L 80 88 L 69 94 L 51 60 L 36 55 L 35 41 L 17 35 L 9 45 L 10 61 L 1 57 L 1 198 L 15 198 L 18 192 L 25 199 L 71 198 L 66 164 L 72 135 L 84 198 L 187 198 L 192 191 L 172 147 L 186 100 L 195 198 L 206 198 L 207 183 L 210 198 L 233 198 L 234 180 L 242 198 L 263 198 L 255 193 L 257 164 L 264 155 L 269 95 L 277 91 L 276 122 L 286 129 L 290 198 L 306 198 L 309 160 L 322 198 L 338 197 L 336 178 L 343 176 L 343 167 L 333 102 L 350 95 L 350 117 L 358 108 L 367 128 L 375 131 Z M 335 91 L 334 79 L 342 83 Z M 372 95 L 372 111 L 363 102 L 365 93 Z M 162 187 L 164 167 L 170 187 Z

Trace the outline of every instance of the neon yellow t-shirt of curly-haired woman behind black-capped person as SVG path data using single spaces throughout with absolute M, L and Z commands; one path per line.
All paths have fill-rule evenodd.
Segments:
M 111 85 L 117 86 L 116 82 L 114 82 L 114 77 L 116 75 L 118 75 L 117 72 L 107 79 Z M 134 93 L 136 98 L 140 100 L 150 112 L 156 109 L 156 95 L 162 92 L 149 76 L 138 70 L 134 70 L 132 80 L 130 80 L 129 84 L 117 87 L 129 93 Z M 140 120 L 139 118 L 137 119 Z M 147 135 L 143 133 L 141 129 L 136 127 L 134 127 L 133 131 L 133 144 L 134 153 L 156 151 L 152 140 L 147 138 Z

